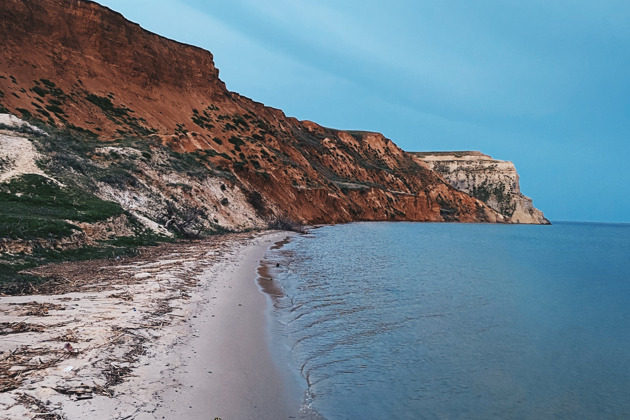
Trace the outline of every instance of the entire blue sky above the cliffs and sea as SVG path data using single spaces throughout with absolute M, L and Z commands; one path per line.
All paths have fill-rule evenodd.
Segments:
M 510 160 L 551 221 L 630 222 L 627 0 L 99 0 L 228 89 L 408 151 Z

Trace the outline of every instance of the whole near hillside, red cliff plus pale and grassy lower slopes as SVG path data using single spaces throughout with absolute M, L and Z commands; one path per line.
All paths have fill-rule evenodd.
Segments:
M 383 135 L 230 92 L 210 52 L 95 2 L 4 0 L 0 48 L 9 276 L 55 252 L 115 256 L 225 231 L 508 221 Z

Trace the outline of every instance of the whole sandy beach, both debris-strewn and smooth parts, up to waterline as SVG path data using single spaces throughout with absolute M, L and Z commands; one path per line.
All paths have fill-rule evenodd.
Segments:
M 269 350 L 256 283 L 286 232 L 222 235 L 139 257 L 46 267 L 0 297 L 7 419 L 283 419 L 297 414 Z

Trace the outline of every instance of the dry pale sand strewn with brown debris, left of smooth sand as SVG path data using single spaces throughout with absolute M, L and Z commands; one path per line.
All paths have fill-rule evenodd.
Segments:
M 137 389 L 125 387 L 134 370 L 155 357 L 156 340 L 168 347 L 177 339 L 167 327 L 187 320 L 184 305 L 199 276 L 255 235 L 38 267 L 48 281 L 32 294 L 0 297 L 0 412 L 61 419 L 69 401 L 133 395 Z

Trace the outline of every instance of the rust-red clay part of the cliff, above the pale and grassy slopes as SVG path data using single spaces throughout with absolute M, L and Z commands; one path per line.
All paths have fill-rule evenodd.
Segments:
M 229 92 L 212 54 L 84 0 L 0 2 L 0 106 L 98 138 L 194 153 L 261 218 L 502 222 L 378 133 L 328 129 Z

